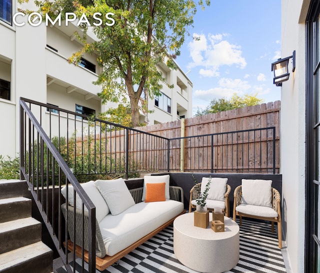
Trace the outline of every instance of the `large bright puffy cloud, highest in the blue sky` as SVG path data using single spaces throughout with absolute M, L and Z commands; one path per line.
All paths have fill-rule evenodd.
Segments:
M 204 34 L 193 33 L 193 37 L 199 37 L 199 39 L 193 39 L 188 44 L 192 58 L 188 67 L 203 67 L 199 73 L 208 77 L 218 76 L 219 67 L 222 65 L 236 65 L 244 68 L 246 61 L 241 56 L 241 47 L 223 40 L 224 36 L 227 34 L 208 34 L 206 37 Z

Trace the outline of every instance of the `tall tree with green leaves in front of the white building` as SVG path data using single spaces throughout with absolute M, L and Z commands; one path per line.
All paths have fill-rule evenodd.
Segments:
M 27 0 L 21 0 L 27 1 Z M 86 39 L 87 23 L 80 24 L 84 34 L 78 35 L 83 43 L 80 51 L 69 58 L 78 63 L 84 52 L 97 54 L 103 71 L 95 84 L 102 87 L 102 102 L 112 101 L 131 108 L 132 126 L 139 125 L 139 100 L 142 92 L 149 97 L 160 95 L 162 84 L 167 84 L 157 63 L 174 68 L 176 55 L 193 23 L 197 7 L 204 8 L 209 0 L 36 0 L 39 11 L 54 18 L 57 11 L 83 13 L 98 40 Z M 61 12 L 62 10 L 62 12 Z M 115 23 L 101 16 L 102 24 L 93 25 L 93 14 L 112 12 Z M 172 87 L 172 86 L 171 86 Z

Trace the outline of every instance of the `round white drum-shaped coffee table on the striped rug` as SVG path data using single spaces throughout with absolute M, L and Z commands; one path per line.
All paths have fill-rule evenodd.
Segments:
M 239 261 L 239 226 L 224 216 L 224 232 L 214 232 L 209 225 L 193 225 L 193 212 L 173 221 L 173 251 L 185 266 L 200 272 L 221 273 Z

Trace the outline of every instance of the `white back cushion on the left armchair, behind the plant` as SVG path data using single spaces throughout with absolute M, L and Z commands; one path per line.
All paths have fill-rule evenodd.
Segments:
M 210 177 L 202 177 L 201 181 L 201 193 L 204 192 L 205 186 L 208 183 Z M 209 200 L 224 201 L 224 194 L 226 191 L 226 182 L 228 178 L 211 177 L 210 188 L 208 190 Z

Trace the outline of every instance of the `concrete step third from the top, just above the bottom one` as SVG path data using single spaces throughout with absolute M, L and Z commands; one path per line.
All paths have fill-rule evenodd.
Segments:
M 41 240 L 41 223 L 22 218 L 0 223 L 0 254 Z

